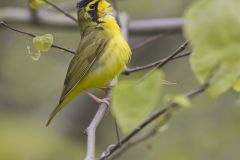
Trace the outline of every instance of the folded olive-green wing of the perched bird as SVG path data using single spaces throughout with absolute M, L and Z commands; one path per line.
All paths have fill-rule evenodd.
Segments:
M 82 38 L 80 46 L 68 68 L 60 103 L 92 69 L 97 59 L 103 53 L 107 41 L 101 30 L 93 30 Z

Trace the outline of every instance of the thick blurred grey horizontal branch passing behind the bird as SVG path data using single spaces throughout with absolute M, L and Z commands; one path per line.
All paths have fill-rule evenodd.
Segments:
M 76 23 L 63 15 L 55 12 L 39 10 L 38 24 L 56 29 L 69 29 L 78 31 Z M 0 8 L 0 20 L 13 24 L 34 24 L 28 9 L 19 7 Z M 147 20 L 131 20 L 128 23 L 130 35 L 152 35 L 156 33 L 179 33 L 182 30 L 184 20 L 182 18 L 160 18 Z

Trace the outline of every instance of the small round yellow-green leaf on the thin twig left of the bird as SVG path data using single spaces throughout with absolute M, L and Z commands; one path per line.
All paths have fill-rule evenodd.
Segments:
M 53 35 L 45 34 L 43 36 L 37 36 L 33 38 L 33 46 L 41 52 L 48 51 L 53 44 Z

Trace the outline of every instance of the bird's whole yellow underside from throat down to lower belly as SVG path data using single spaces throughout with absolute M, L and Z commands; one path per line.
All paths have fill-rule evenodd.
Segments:
M 103 35 L 110 40 L 93 69 L 78 84 L 81 90 L 102 87 L 109 83 L 124 69 L 131 56 L 131 49 L 115 18 L 105 16 L 101 20 L 104 22 L 101 24 Z

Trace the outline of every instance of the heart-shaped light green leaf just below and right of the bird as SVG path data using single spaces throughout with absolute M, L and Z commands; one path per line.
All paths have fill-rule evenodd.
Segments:
M 141 81 L 123 81 L 113 89 L 112 111 L 123 132 L 129 132 L 152 113 L 163 77 L 162 72 L 154 71 Z

